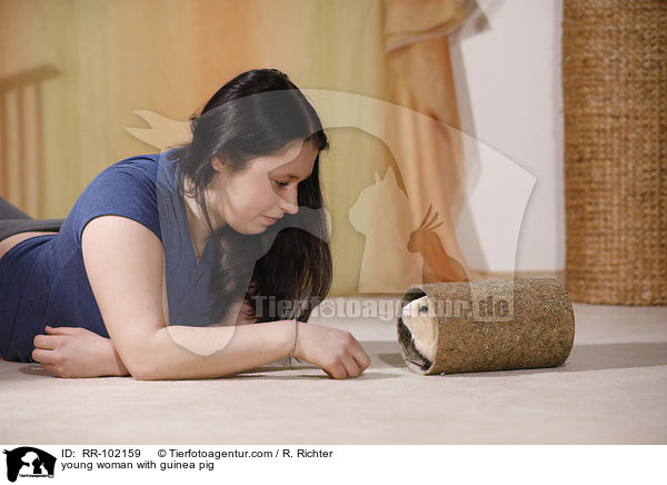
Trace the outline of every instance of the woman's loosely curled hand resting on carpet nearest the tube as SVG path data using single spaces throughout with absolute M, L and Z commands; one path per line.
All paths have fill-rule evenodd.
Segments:
M 298 325 L 295 357 L 321 367 L 329 377 L 358 377 L 370 365 L 370 357 L 349 331 L 302 321 Z

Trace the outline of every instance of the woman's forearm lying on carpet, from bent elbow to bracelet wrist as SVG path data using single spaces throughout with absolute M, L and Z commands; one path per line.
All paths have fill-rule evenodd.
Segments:
M 189 327 L 156 331 L 137 379 L 212 378 L 259 367 L 289 355 L 295 321 Z

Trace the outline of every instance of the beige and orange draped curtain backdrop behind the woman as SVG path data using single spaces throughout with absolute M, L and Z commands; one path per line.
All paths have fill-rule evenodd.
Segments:
M 107 166 L 180 141 L 222 83 L 277 68 L 330 137 L 332 295 L 465 277 L 447 38 L 464 19 L 456 0 L 1 0 L 0 196 L 66 217 Z

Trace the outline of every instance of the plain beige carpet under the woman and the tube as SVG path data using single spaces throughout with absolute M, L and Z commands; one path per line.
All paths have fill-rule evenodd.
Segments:
M 329 318 L 370 355 L 356 379 L 272 365 L 219 379 L 60 379 L 0 362 L 6 444 L 665 444 L 667 308 L 575 304 L 559 368 L 418 376 L 396 323 Z

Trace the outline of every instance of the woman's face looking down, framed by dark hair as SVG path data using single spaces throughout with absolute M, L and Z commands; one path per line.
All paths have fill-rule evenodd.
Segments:
M 311 142 L 296 140 L 236 172 L 215 158 L 217 174 L 207 188 L 213 228 L 228 224 L 240 234 L 260 234 L 286 212 L 298 212 L 297 188 L 310 177 L 317 155 Z

